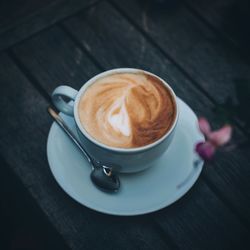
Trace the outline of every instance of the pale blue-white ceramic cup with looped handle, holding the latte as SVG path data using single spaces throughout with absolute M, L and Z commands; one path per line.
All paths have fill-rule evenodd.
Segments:
M 93 138 L 82 126 L 79 114 L 78 114 L 78 104 L 81 96 L 84 94 L 85 90 L 97 79 L 116 74 L 116 73 L 138 73 L 142 72 L 144 74 L 152 75 L 157 77 L 162 81 L 165 87 L 172 94 L 175 106 L 176 106 L 176 116 L 173 121 L 171 128 L 167 131 L 157 141 L 142 147 L 137 148 L 116 148 L 107 146 L 95 138 Z M 63 97 L 67 97 L 70 100 L 74 101 L 73 105 L 70 105 L 68 102 L 63 100 Z M 160 77 L 140 69 L 133 68 L 118 68 L 109 71 L 105 71 L 101 74 L 96 75 L 95 77 L 88 80 L 79 91 L 69 87 L 69 86 L 59 86 L 52 93 L 52 101 L 58 110 L 61 112 L 73 116 L 76 122 L 76 128 L 80 141 L 82 142 L 84 148 L 88 153 L 95 158 L 97 161 L 106 164 L 113 164 L 115 166 L 115 171 L 121 173 L 134 173 L 144 169 L 147 169 L 151 166 L 154 166 L 154 162 L 167 150 L 169 147 L 174 132 L 176 129 L 176 124 L 179 116 L 179 108 L 176 100 L 176 96 L 172 88 Z

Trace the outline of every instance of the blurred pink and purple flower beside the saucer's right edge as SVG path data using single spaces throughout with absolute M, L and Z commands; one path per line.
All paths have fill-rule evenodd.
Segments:
M 206 141 L 197 143 L 195 150 L 202 159 L 210 160 L 218 147 L 229 142 L 232 136 L 232 127 L 225 125 L 216 131 L 211 131 L 210 124 L 205 118 L 200 118 L 198 123 Z

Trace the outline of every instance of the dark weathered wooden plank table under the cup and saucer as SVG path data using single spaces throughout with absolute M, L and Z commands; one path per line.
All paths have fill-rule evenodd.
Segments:
M 66 247 L 250 249 L 250 47 L 248 33 L 240 35 L 248 6 L 233 0 L 1 1 L 1 166 Z M 116 67 L 166 79 L 214 127 L 226 117 L 240 144 L 206 164 L 181 200 L 144 216 L 108 216 L 79 205 L 47 163 L 53 89 L 62 83 L 79 89 Z

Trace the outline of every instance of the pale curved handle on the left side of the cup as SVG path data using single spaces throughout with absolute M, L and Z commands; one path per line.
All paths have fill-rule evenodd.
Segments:
M 74 115 L 74 106 L 68 104 L 66 101 L 63 100 L 63 97 L 69 98 L 72 101 L 75 101 L 75 98 L 78 94 L 78 91 L 66 86 L 62 85 L 57 87 L 52 93 L 52 102 L 56 106 L 56 108 L 70 116 Z

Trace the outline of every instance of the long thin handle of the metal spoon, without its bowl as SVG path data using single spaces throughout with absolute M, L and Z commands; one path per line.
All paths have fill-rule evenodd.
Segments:
M 87 158 L 88 162 L 92 164 L 92 159 L 86 150 L 82 147 L 79 140 L 75 137 L 72 130 L 66 125 L 64 120 L 56 113 L 54 109 L 48 107 L 48 113 L 55 120 L 55 122 L 63 129 L 63 131 L 69 136 L 69 138 L 76 144 L 76 146 L 81 150 L 84 156 Z

